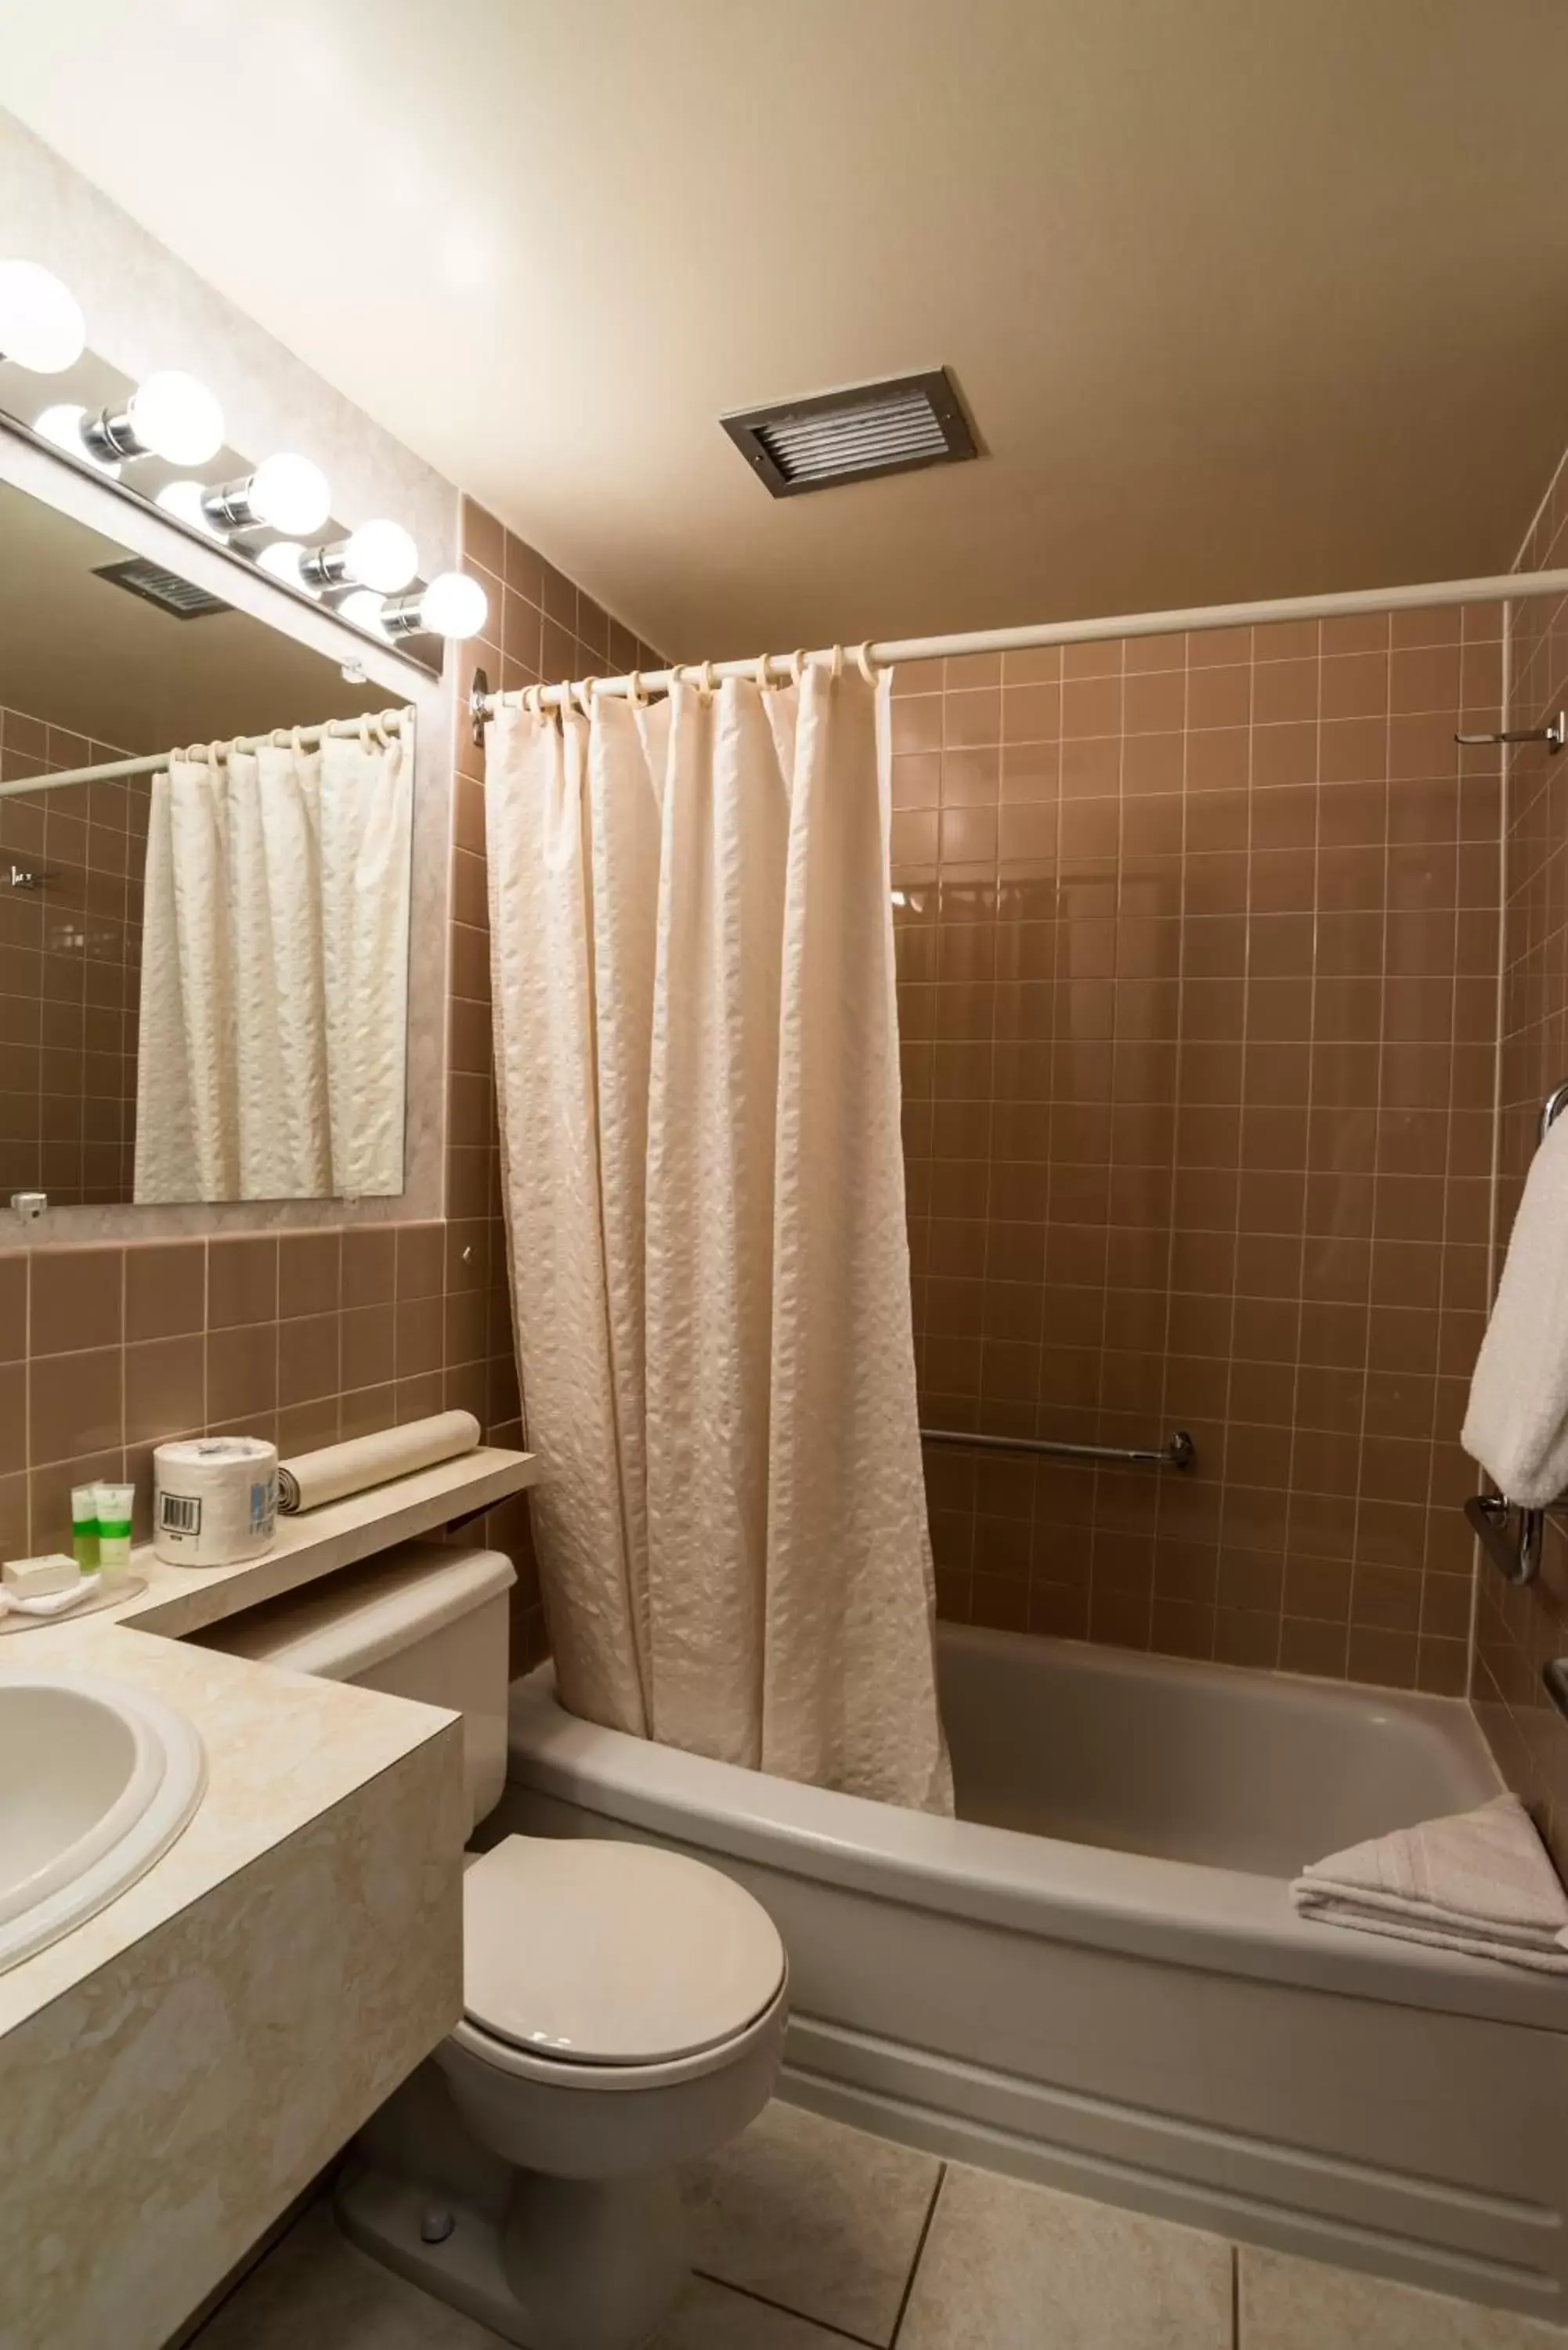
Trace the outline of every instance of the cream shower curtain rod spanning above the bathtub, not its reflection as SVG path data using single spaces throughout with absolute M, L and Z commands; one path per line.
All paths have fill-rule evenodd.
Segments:
M 1110 620 L 1041 620 L 1030 627 L 978 627 L 954 637 L 893 637 L 884 644 L 827 646 L 813 653 L 762 653 L 752 660 L 682 660 L 672 670 L 646 670 L 632 677 L 595 677 L 559 686 L 512 686 L 491 693 L 480 670 L 473 682 L 468 710 L 475 724 L 475 740 L 482 740 L 484 719 L 503 705 L 517 707 L 524 696 L 538 693 L 545 705 L 562 705 L 574 693 L 592 686 L 597 693 L 630 693 L 632 686 L 663 691 L 684 677 L 689 684 L 719 677 L 790 677 L 802 663 L 830 667 L 835 660 L 865 660 L 877 670 L 891 670 L 910 660 L 954 660 L 964 653 L 1027 653 L 1046 644 L 1107 644 L 1114 637 L 1185 637 L 1213 627 L 1274 627 L 1281 620 L 1347 620 L 1366 611 L 1422 611 L 1436 604 L 1505 604 L 1519 597 L 1568 597 L 1568 571 L 1505 571 L 1481 580 L 1427 580 L 1418 588 L 1345 588 L 1335 595 L 1272 597 L 1255 604 L 1197 604 L 1187 611 L 1135 611 Z

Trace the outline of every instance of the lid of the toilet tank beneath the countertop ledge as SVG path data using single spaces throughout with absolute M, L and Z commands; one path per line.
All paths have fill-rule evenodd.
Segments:
M 202 1645 L 233 1657 L 284 1664 L 320 1680 L 353 1680 L 386 1657 L 473 1614 L 517 1582 L 503 1551 L 463 1551 L 440 1542 L 404 1542 L 360 1567 L 329 1574 L 308 1591 L 228 1617 Z

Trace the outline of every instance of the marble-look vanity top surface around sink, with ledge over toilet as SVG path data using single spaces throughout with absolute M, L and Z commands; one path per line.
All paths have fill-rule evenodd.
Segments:
M 482 1445 L 280 1518 L 273 1549 L 237 1567 L 172 1567 L 143 1544 L 132 1577 L 146 1589 L 96 1614 L 0 1638 L 0 1676 L 80 1671 L 129 1683 L 183 1713 L 207 1748 L 202 1802 L 162 1859 L 108 1908 L 0 1974 L 0 2035 L 454 1723 L 437 1706 L 284 1673 L 183 1636 L 489 1509 L 536 1476 L 534 1455 Z

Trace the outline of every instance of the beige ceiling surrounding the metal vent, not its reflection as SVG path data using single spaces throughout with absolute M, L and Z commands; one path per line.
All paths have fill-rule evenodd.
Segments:
M 54 0 L 0 96 L 686 658 L 1507 566 L 1563 0 Z M 985 458 L 717 416 L 947 362 Z

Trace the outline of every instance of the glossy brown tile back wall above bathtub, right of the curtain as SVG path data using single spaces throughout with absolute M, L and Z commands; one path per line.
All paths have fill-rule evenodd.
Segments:
M 910 667 L 893 886 L 940 1605 L 1462 1690 L 1500 613 Z

